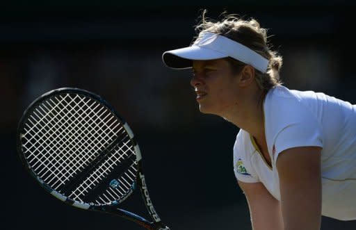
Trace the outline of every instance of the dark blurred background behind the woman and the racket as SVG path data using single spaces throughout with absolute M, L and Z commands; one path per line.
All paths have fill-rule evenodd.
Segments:
M 140 229 L 47 195 L 23 169 L 16 129 L 44 92 L 76 87 L 101 95 L 131 124 L 156 210 L 171 229 L 251 229 L 236 184 L 238 128 L 199 113 L 191 72 L 161 54 L 190 44 L 202 9 L 254 17 L 284 57 L 282 80 L 356 104 L 352 1 L 7 1 L 0 6 L 1 229 Z M 137 191 L 138 192 L 138 191 Z M 146 215 L 129 197 L 124 207 Z M 355 198 L 356 199 L 356 198 Z M 323 218 L 322 229 L 356 229 Z

